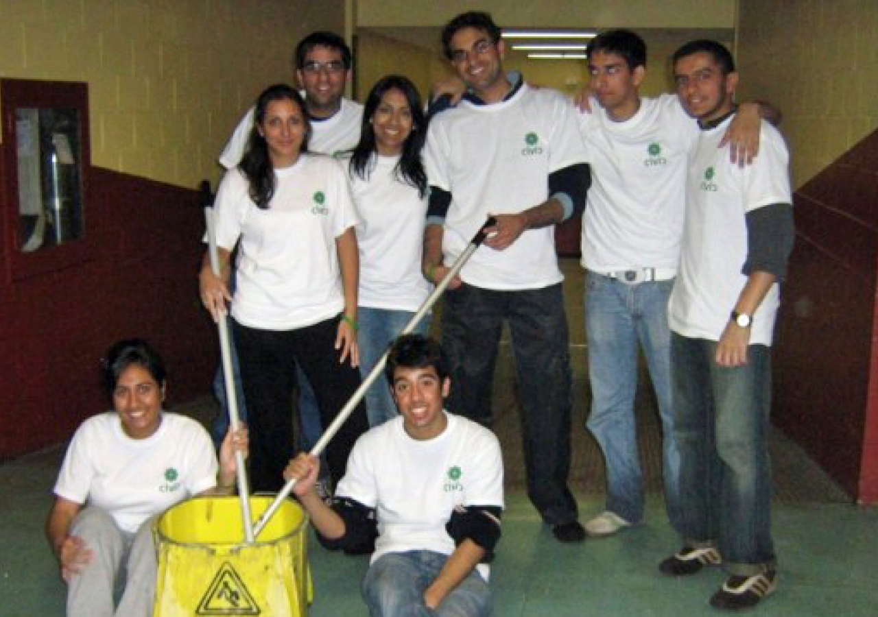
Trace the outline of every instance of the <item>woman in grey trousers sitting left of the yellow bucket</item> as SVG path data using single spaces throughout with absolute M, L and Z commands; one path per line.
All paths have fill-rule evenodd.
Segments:
M 230 493 L 234 451 L 247 451 L 247 429 L 229 431 L 218 466 L 204 427 L 162 411 L 165 365 L 146 341 L 117 342 L 103 369 L 113 411 L 76 430 L 46 523 L 68 584 L 68 617 L 152 614 L 153 517 L 192 495 Z M 114 585 L 123 576 L 114 607 Z

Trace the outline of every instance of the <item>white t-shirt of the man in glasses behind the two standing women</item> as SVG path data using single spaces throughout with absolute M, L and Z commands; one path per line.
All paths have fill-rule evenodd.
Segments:
M 251 107 L 234 133 L 228 139 L 222 154 L 219 154 L 219 164 L 226 169 L 234 169 L 244 157 L 247 150 L 247 142 L 250 132 L 253 130 L 253 114 L 255 107 Z M 360 128 L 363 123 L 363 105 L 342 98 L 342 107 L 333 116 L 325 120 L 311 118 L 311 137 L 308 140 L 308 150 L 317 154 L 338 154 L 350 150 L 360 140 Z

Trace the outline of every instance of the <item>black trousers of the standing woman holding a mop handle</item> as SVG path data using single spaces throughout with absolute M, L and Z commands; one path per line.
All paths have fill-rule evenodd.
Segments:
M 296 386 L 296 362 L 311 382 L 320 420 L 328 427 L 360 384 L 360 372 L 339 363 L 335 335 L 339 317 L 295 330 L 260 330 L 234 322 L 241 360 L 250 429 L 250 478 L 254 491 L 277 491 L 284 485 L 286 463 L 295 454 L 291 402 Z M 337 483 L 354 442 L 367 428 L 361 401 L 329 441 L 329 474 Z

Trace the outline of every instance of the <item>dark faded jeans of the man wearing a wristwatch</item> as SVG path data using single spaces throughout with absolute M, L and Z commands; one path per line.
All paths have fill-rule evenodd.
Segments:
M 771 537 L 771 349 L 747 363 L 716 365 L 716 341 L 674 333 L 673 392 L 680 448 L 677 531 L 692 546 L 716 545 L 734 576 L 774 568 Z

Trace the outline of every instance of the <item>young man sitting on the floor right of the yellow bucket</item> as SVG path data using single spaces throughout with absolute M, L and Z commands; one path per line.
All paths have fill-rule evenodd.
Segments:
M 450 390 L 439 345 L 393 342 L 385 369 L 399 417 L 356 442 L 328 506 L 313 489 L 319 463 L 299 455 L 284 477 L 332 549 L 373 552 L 363 581 L 372 617 L 487 617 L 487 562 L 500 539 L 503 463 L 484 427 L 443 410 Z

